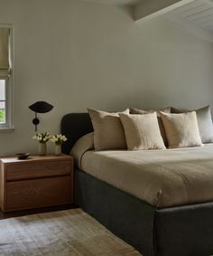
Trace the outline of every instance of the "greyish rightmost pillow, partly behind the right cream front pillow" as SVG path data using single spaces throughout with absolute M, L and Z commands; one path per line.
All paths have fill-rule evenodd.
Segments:
M 197 114 L 198 124 L 199 124 L 199 135 L 201 137 L 202 143 L 213 142 L 213 124 L 211 119 L 210 106 L 204 107 L 202 109 L 193 110 Z M 184 113 L 181 109 L 171 108 L 171 113 Z M 189 112 L 189 111 L 187 111 Z

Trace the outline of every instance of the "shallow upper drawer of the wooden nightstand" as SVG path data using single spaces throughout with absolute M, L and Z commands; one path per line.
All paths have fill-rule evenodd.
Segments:
M 6 180 L 26 180 L 48 176 L 70 175 L 71 161 L 22 162 L 6 166 Z

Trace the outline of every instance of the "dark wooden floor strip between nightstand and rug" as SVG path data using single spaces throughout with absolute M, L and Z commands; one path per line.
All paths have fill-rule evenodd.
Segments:
M 17 211 L 12 213 L 3 213 L 0 210 L 0 220 L 13 218 L 13 217 L 20 217 L 24 215 L 31 215 L 31 214 L 37 214 L 37 213 L 50 213 L 50 212 L 56 212 L 56 211 L 74 209 L 74 208 L 77 208 L 74 204 L 67 204 L 67 205 L 59 205 L 59 206 L 51 206 L 51 207 L 43 207 L 38 209 Z

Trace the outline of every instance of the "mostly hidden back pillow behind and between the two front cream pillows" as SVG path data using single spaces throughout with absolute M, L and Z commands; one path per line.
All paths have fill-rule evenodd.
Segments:
M 148 113 L 153 113 L 154 111 L 156 111 L 157 112 L 157 117 L 158 117 L 158 124 L 159 124 L 159 128 L 160 128 L 160 131 L 161 131 L 163 142 L 164 142 L 166 147 L 168 146 L 168 141 L 167 141 L 167 138 L 166 138 L 165 129 L 162 125 L 160 110 L 159 111 L 157 111 L 157 110 L 143 110 L 143 109 L 134 109 L 134 108 L 130 108 L 129 110 L 130 110 L 130 114 L 142 114 L 142 115 L 148 114 Z M 168 107 L 166 109 L 162 109 L 161 111 L 164 112 L 164 113 L 171 113 L 171 107 Z

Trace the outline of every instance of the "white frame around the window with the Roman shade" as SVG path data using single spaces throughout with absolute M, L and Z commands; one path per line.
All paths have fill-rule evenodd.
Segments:
M 0 27 L 6 27 L 10 29 L 10 63 L 12 71 L 10 77 L 5 80 L 5 123 L 0 123 L 0 132 L 13 131 L 14 130 L 14 25 L 0 24 Z M 1 79 L 1 77 L 0 77 Z

